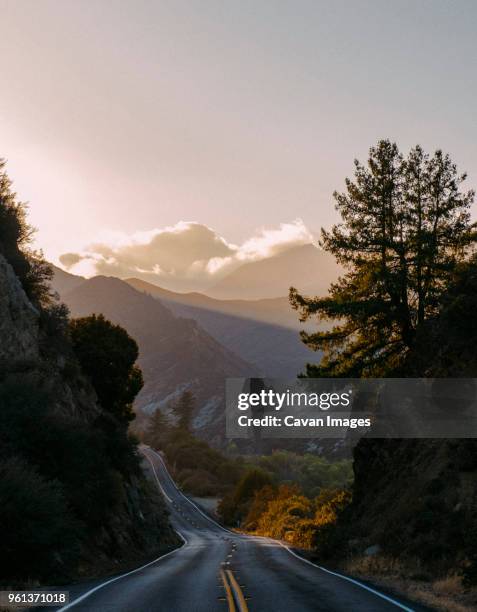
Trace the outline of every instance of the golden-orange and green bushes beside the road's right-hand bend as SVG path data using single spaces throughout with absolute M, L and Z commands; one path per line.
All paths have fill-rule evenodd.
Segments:
M 246 531 L 313 547 L 317 529 L 334 524 L 349 501 L 348 460 L 333 463 L 311 454 L 276 451 L 244 458 L 243 469 L 217 510 L 226 524 Z

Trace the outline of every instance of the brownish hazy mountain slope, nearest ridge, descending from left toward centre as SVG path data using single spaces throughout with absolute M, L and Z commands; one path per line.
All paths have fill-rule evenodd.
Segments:
M 210 441 L 223 439 L 224 382 L 257 369 L 207 334 L 195 321 L 174 316 L 158 300 L 112 277 L 97 276 L 62 296 L 73 316 L 93 312 L 119 323 L 140 350 L 145 385 L 136 406 L 152 412 L 184 388 L 198 402 L 194 426 Z

